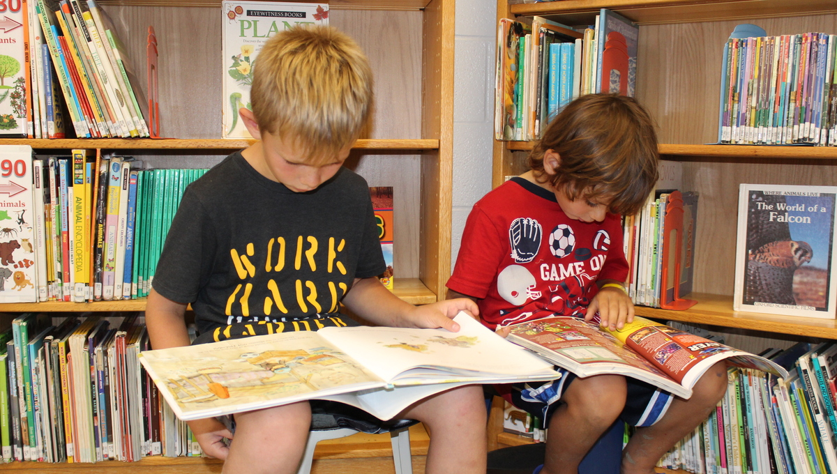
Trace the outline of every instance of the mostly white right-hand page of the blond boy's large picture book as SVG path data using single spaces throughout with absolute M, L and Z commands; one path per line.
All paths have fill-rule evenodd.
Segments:
M 552 365 L 511 344 L 466 313 L 460 331 L 383 327 L 319 332 L 390 384 L 555 378 Z

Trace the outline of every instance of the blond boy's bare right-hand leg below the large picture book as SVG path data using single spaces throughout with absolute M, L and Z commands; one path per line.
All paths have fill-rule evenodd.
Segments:
M 427 474 L 485 474 L 485 396 L 479 385 L 433 395 L 403 412 L 427 427 Z

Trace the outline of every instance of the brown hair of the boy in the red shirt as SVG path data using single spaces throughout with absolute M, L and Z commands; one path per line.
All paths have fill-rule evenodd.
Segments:
M 560 156 L 554 174 L 543 166 L 547 150 Z M 659 159 L 654 120 L 636 99 L 587 94 L 547 125 L 529 166 L 538 181 L 549 181 L 573 201 L 607 197 L 610 212 L 632 215 L 654 189 Z

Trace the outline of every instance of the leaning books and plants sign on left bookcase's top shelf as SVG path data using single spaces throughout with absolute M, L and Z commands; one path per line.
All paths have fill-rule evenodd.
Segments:
M 0 63 L 13 89 L 0 135 L 147 137 L 146 101 L 113 23 L 95 0 L 8 2 Z M 14 26 L 17 25 L 17 26 Z M 68 122 L 69 120 L 69 122 Z M 71 127 L 69 125 L 72 125 Z

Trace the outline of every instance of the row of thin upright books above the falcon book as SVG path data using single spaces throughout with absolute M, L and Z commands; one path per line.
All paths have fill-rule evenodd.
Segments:
M 737 33 L 752 29 L 724 45 L 719 142 L 837 145 L 837 35 Z

